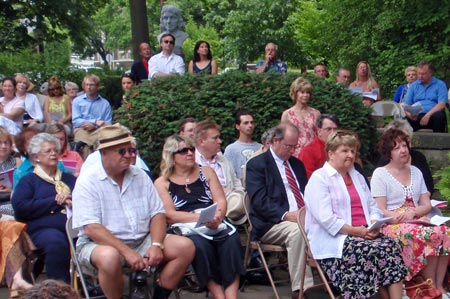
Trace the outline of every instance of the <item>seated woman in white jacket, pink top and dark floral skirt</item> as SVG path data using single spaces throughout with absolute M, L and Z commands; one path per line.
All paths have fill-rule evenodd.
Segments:
M 314 258 L 343 298 L 402 298 L 406 274 L 400 246 L 367 228 L 382 213 L 353 164 L 359 141 L 338 130 L 327 140 L 327 162 L 305 189 L 306 229 Z

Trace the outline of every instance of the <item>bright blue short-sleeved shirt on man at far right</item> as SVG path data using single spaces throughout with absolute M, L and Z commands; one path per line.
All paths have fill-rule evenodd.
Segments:
M 448 103 L 447 85 L 435 77 L 431 78 L 431 82 L 427 86 L 423 85 L 420 80 L 414 81 L 406 93 L 405 103 L 412 105 L 417 102 L 422 104 L 422 113 L 427 113 L 437 103 Z

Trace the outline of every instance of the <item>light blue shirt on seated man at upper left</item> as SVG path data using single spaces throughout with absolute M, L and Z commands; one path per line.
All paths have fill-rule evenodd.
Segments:
M 76 97 L 72 104 L 72 123 L 74 128 L 80 127 L 84 122 L 95 124 L 97 120 L 112 122 L 112 110 L 109 102 L 97 96 L 94 100 L 87 98 L 86 94 Z

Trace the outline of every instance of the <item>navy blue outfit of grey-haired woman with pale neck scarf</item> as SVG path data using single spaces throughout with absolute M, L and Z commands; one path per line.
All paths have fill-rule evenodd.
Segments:
M 62 173 L 61 181 L 73 190 L 76 177 Z M 55 196 L 55 185 L 31 172 L 19 181 L 11 202 L 17 221 L 27 224 L 34 245 L 44 252 L 47 277 L 70 283 L 67 215 L 62 212 L 64 207 L 56 203 Z

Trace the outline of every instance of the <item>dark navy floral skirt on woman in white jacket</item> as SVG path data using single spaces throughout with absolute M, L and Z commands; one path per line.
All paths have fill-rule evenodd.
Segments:
M 369 298 L 380 287 L 401 281 L 406 275 L 400 246 L 380 234 L 374 240 L 348 236 L 342 258 L 318 260 L 343 298 Z

